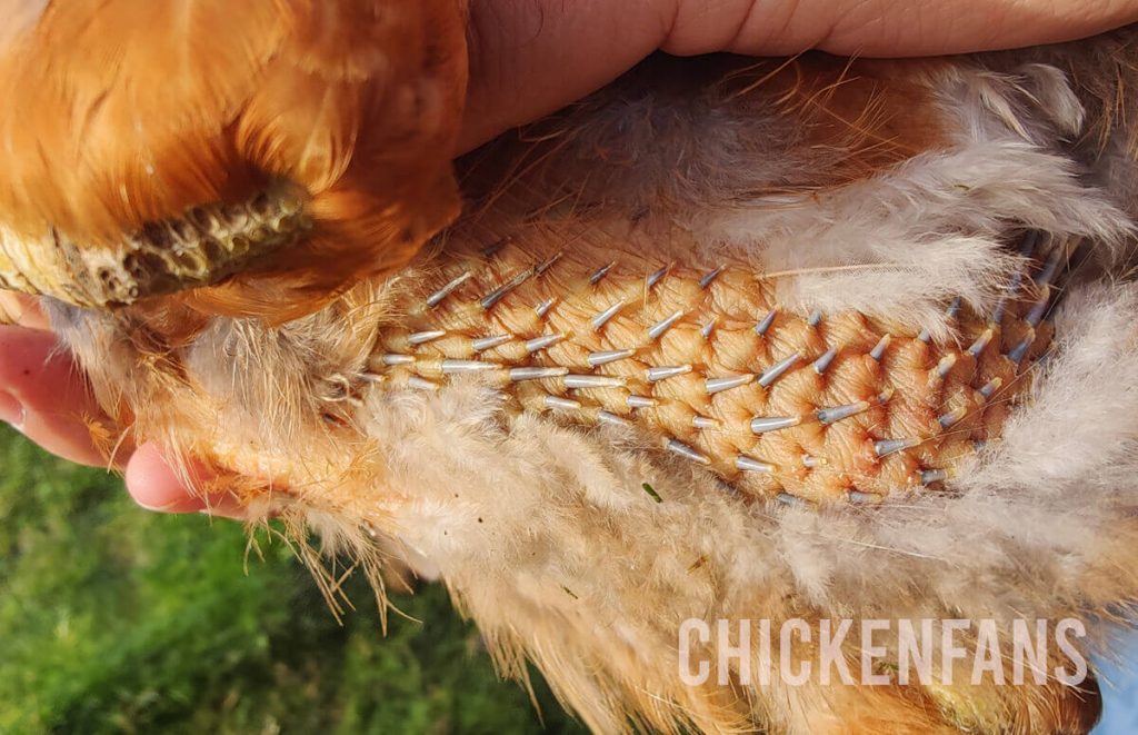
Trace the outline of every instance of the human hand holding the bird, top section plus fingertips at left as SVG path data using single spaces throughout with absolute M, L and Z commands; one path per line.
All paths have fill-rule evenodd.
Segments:
M 1138 0 L 471 0 L 462 152 L 603 86 L 649 53 L 920 56 L 1091 35 L 1138 19 Z M 98 408 L 31 299 L 0 294 L 0 420 L 59 456 L 105 465 Z M 0 320 L 2 321 L 2 320 Z M 159 447 L 117 448 L 131 496 L 167 511 L 237 512 L 188 490 Z

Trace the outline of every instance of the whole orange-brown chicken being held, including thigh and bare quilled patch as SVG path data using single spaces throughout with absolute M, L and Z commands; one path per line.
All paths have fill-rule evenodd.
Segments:
M 17 43 L 74 22 L 72 7 L 50 6 Z M 776 635 L 764 654 L 741 626 L 963 619 L 957 643 L 976 647 L 986 630 L 1092 628 L 1133 603 L 1136 31 L 953 59 L 652 58 L 460 160 L 457 216 L 442 159 L 460 9 L 393 3 L 440 31 L 388 35 L 352 19 L 357 7 L 389 6 L 254 3 L 216 20 L 212 40 L 288 19 L 271 49 L 324 49 L 384 100 L 364 117 L 356 97 L 321 94 L 308 133 L 267 147 L 236 134 L 236 157 L 165 129 L 159 113 L 188 115 L 190 92 L 164 91 L 158 69 L 182 57 L 156 39 L 154 80 L 112 88 L 121 108 L 108 97 L 89 135 L 52 129 L 50 88 L 17 88 L 35 124 L 6 117 L 6 135 L 47 157 L 17 162 L 0 201 L 14 213 L 5 275 L 53 297 L 109 431 L 197 457 L 199 490 L 232 494 L 251 523 L 278 519 L 333 608 L 322 558 L 351 558 L 381 600 L 389 561 L 440 579 L 505 675 L 534 662 L 599 733 L 1089 730 L 1097 685 L 1067 672 L 1098 636 L 1046 649 L 1007 685 L 1008 649 L 979 674 L 949 656 L 926 679 L 893 641 L 847 684 L 820 667 L 781 676 L 781 658 L 816 662 L 817 638 Z M 332 44 L 335 28 L 346 40 Z M 261 58 L 233 36 L 220 48 Z M 291 119 L 297 65 L 270 83 L 290 53 L 269 52 L 250 89 L 215 90 L 241 102 L 208 140 L 258 109 Z M 6 83 L 31 84 L 15 58 Z M 435 102 L 405 115 L 397 90 L 414 74 L 354 74 L 380 58 L 436 69 L 417 88 Z M 349 113 L 351 135 L 325 138 Z M 146 160 L 108 152 L 132 129 L 118 116 L 152 119 L 143 141 L 173 148 L 132 147 L 173 163 L 155 164 L 156 184 L 126 176 L 140 182 L 129 207 L 75 209 L 88 172 Z M 398 134 L 371 141 L 364 119 Z M 337 166 L 297 142 L 313 139 Z M 109 168 L 84 163 L 104 155 Z M 166 185 L 187 170 L 208 185 Z M 234 208 L 304 232 L 271 263 L 211 251 L 196 280 L 162 281 L 166 261 L 147 259 L 133 282 L 163 287 L 138 298 L 63 266 Z M 66 237 L 33 237 L 46 226 Z M 717 658 L 724 645 L 737 651 Z M 850 636 L 835 658 L 860 670 L 867 649 Z

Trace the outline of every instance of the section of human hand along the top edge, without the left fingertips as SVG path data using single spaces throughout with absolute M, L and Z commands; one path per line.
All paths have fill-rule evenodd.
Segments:
M 1136 0 L 471 0 L 470 10 L 463 150 L 657 50 L 932 56 L 1070 41 L 1138 20 Z

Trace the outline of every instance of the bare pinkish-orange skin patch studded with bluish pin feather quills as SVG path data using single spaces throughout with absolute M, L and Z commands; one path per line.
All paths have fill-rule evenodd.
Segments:
M 498 210 L 508 216 L 508 206 Z M 571 222 L 480 224 L 500 239 L 447 248 L 393 305 L 407 316 L 379 336 L 371 365 L 384 385 L 429 390 L 455 373 L 485 371 L 512 410 L 633 422 L 752 495 L 867 502 L 940 482 L 974 443 L 999 436 L 1049 344 L 1045 312 L 1032 313 L 1047 305 L 1049 287 L 1030 278 L 1009 284 L 998 323 L 947 304 L 958 313 L 957 332 L 938 344 L 856 312 L 786 312 L 767 281 L 789 274 L 652 259 L 643 237 L 603 223 L 566 246 Z M 1039 255 L 1028 247 L 1029 257 Z M 1042 270 L 1024 263 L 1024 273 Z M 511 368 L 561 368 L 569 377 L 511 378 Z M 577 375 L 621 385 L 578 388 Z M 731 378 L 741 385 L 707 382 Z M 795 426 L 765 430 L 762 419 Z M 912 446 L 880 444 L 890 440 Z

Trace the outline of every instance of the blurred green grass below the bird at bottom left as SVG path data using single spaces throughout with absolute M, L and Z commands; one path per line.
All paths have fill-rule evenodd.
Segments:
M 0 733 L 531 733 L 434 585 L 344 625 L 280 543 L 135 507 L 117 478 L 0 428 Z M 539 687 L 549 732 L 580 732 Z

